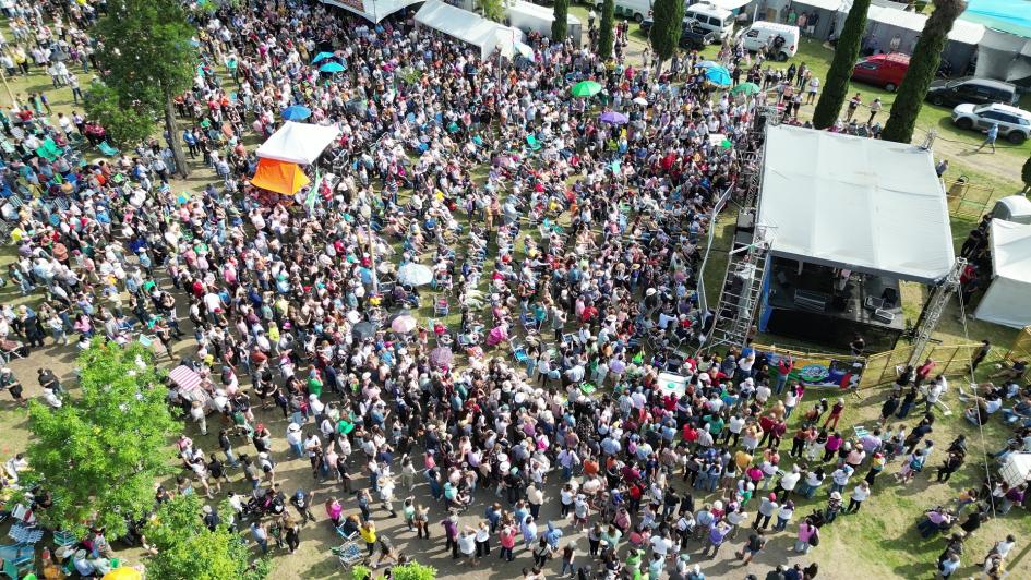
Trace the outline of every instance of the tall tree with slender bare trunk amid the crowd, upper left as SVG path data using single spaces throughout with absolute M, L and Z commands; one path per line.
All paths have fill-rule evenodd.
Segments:
M 172 99 L 192 85 L 197 56 L 190 44 L 195 31 L 182 4 L 178 0 L 112 0 L 94 33 L 100 41 L 97 60 L 104 83 L 118 104 L 139 111 L 141 119 L 164 118 L 176 167 L 185 178 L 190 168 Z

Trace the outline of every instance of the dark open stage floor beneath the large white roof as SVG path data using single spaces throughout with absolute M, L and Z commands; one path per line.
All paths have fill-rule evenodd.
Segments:
M 848 350 L 855 334 L 867 351 L 895 348 L 906 330 L 899 280 L 771 257 L 759 330 Z

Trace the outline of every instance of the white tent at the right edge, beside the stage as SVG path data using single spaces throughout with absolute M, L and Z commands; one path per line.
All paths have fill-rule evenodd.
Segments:
M 992 286 L 974 317 L 1014 328 L 1031 325 L 1031 226 L 993 219 L 988 241 Z

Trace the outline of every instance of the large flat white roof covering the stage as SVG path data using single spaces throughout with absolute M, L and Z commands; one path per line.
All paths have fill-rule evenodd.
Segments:
M 955 261 L 931 152 L 888 141 L 770 126 L 758 223 L 776 255 L 935 281 Z

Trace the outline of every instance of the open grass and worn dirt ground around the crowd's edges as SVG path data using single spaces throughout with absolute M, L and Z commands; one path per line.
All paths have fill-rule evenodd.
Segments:
M 586 8 L 574 5 L 572 12 L 580 16 L 586 23 Z M 632 25 L 632 29 L 636 29 L 636 26 Z M 639 37 L 633 37 L 632 40 L 639 51 Z M 634 47 L 632 47 L 631 51 L 632 59 L 635 53 L 633 48 Z M 639 52 L 637 53 L 639 55 Z M 803 45 L 800 55 L 794 61 L 801 62 L 804 60 L 807 65 L 812 67 L 817 71 L 817 74 L 823 77 L 826 75 L 830 55 L 831 52 L 829 50 L 822 48 L 817 44 L 807 43 Z M 784 67 L 787 67 L 787 64 L 784 64 Z M 80 80 L 83 85 L 88 83 L 88 78 L 89 75 L 80 74 Z M 24 95 L 28 92 L 45 90 L 50 98 L 55 111 L 70 113 L 75 108 L 71 92 L 67 88 L 53 89 L 49 78 L 39 74 L 38 71 L 29 77 L 19 76 L 11 78 L 10 85 L 12 90 L 20 95 Z M 875 95 L 882 96 L 885 99 L 886 108 L 890 105 L 889 99 L 894 98 L 892 95 L 870 87 L 858 86 L 856 88 L 864 93 L 864 101 L 867 102 Z M 0 97 L 0 100 L 4 99 L 5 97 Z M 803 114 L 811 113 L 811 107 L 804 107 Z M 963 148 L 969 148 L 980 143 L 980 138 L 976 134 L 958 132 L 955 128 L 951 128 L 947 121 L 943 122 L 942 119 L 946 114 L 947 111 L 944 109 L 925 106 L 921 112 L 919 126 L 924 130 L 935 128 L 939 131 L 943 140 L 948 138 L 956 141 L 960 144 L 958 146 L 962 146 Z M 969 176 L 976 183 L 992 188 L 993 196 L 998 197 L 1019 188 L 1015 176 L 1019 172 L 1019 164 L 1022 162 L 1028 152 L 1031 150 L 1029 147 L 1031 146 L 1024 145 L 1022 147 L 1009 148 L 1006 148 L 1005 145 L 1002 146 L 999 153 L 991 157 L 992 164 L 1000 164 L 998 167 L 987 164 L 990 159 L 987 155 L 971 157 L 969 155 L 962 155 L 961 149 L 950 152 L 946 147 L 943 147 L 942 152 L 943 155 L 946 155 L 950 159 L 950 162 L 952 162 L 949 172 L 950 177 L 959 174 Z M 936 145 L 936 152 L 938 150 Z M 87 157 L 91 159 L 94 158 L 92 155 L 87 155 Z M 1011 170 L 1007 169 L 1010 165 Z M 482 180 L 483 169 L 479 168 L 475 174 L 479 180 Z M 173 186 L 177 190 L 196 190 L 206 184 L 211 179 L 212 176 L 206 169 L 195 168 L 193 177 L 189 181 L 176 182 Z M 726 251 L 730 245 L 730 239 L 733 234 L 733 212 L 729 210 L 720 216 L 716 225 L 718 228 L 717 242 L 714 249 L 712 259 L 706 271 L 710 301 L 715 301 L 718 295 L 718 288 L 722 279 L 723 270 L 726 269 Z M 967 220 L 956 220 L 952 226 L 958 242 L 961 242 L 966 237 L 967 229 L 971 227 L 971 222 Z M 517 244 L 517 247 L 518 246 L 519 244 Z M 12 255 L 12 249 L 5 246 L 2 252 L 3 259 L 0 259 L 0 262 L 5 264 Z M 907 310 L 907 315 L 912 317 L 916 312 L 913 310 L 913 304 L 919 304 L 919 301 L 922 300 L 922 289 L 919 287 L 907 287 L 904 298 L 909 300 L 910 304 Z M 24 299 L 10 286 L 0 290 L 0 302 L 20 303 Z M 421 318 L 432 317 L 432 305 L 429 301 L 424 302 L 423 307 L 420 309 L 418 314 Z M 1011 330 L 976 322 L 968 322 L 964 328 L 963 324 L 957 319 L 956 314 L 956 312 L 950 312 L 943 318 L 942 325 L 938 328 L 937 338 L 943 341 L 967 341 L 968 334 L 971 339 L 991 337 L 998 346 L 998 349 L 993 353 L 988 362 L 991 363 L 1004 354 L 1005 347 L 1012 339 L 1014 333 Z M 456 317 L 457 309 L 453 305 L 452 315 L 448 316 L 446 322 L 454 323 L 456 322 Z M 182 351 L 189 348 L 189 346 L 183 345 L 179 348 Z M 48 348 L 41 351 L 41 354 L 34 355 L 32 361 L 17 361 L 16 365 L 12 366 L 15 366 L 15 372 L 19 373 L 22 380 L 26 383 L 26 392 L 33 395 L 35 392 L 33 388 L 35 384 L 32 377 L 35 374 L 34 368 L 36 366 L 39 364 L 49 364 L 53 366 L 59 374 L 67 374 L 71 370 L 72 362 L 73 353 L 68 349 Z M 980 378 L 983 378 L 990 371 L 991 364 L 985 364 L 982 368 L 983 372 L 980 374 Z M 29 383 L 32 383 L 32 387 L 29 387 Z M 952 404 L 954 409 L 959 407 L 959 402 L 955 400 L 955 385 L 959 383 L 959 377 L 955 377 L 952 380 L 954 390 L 950 391 L 952 398 L 948 401 Z M 832 394 L 824 391 L 824 395 L 830 396 Z M 818 398 L 819 396 L 819 392 L 810 394 L 803 407 L 807 408 L 812 404 L 814 398 Z M 877 415 L 884 396 L 883 391 L 874 390 L 864 392 L 862 400 L 849 400 L 842 425 L 849 428 L 853 424 L 871 425 L 872 421 Z M 269 413 L 267 419 L 275 419 L 272 416 L 273 414 L 274 413 Z M 798 415 L 795 415 L 795 420 L 798 420 Z M 25 443 L 29 436 L 25 428 L 25 421 L 26 415 L 23 410 L 13 409 L 8 404 L 0 406 L 0 438 L 2 438 L 0 456 L 3 458 L 10 457 L 10 455 L 24 449 Z M 281 425 L 278 425 L 277 422 L 276 428 L 278 430 L 280 426 Z M 794 427 L 795 423 L 792 423 L 791 426 Z M 278 437 L 278 431 L 274 431 L 274 433 L 276 434 L 277 443 L 281 444 L 283 442 L 281 438 Z M 789 433 L 791 433 L 791 431 L 789 431 Z M 923 509 L 948 502 L 956 495 L 956 492 L 961 486 L 976 485 L 980 478 L 984 474 L 984 462 L 981 460 L 980 454 L 982 450 L 990 452 L 997 450 L 1002 447 L 1006 436 L 1005 430 L 997 423 L 990 423 L 985 426 L 983 432 L 979 432 L 961 419 L 952 415 L 940 420 L 935 425 L 934 439 L 939 449 L 937 454 L 940 454 L 940 449 L 944 449 L 948 443 L 960 433 L 966 433 L 968 437 L 971 438 L 971 456 L 964 468 L 954 476 L 949 485 L 928 483 L 926 475 L 919 478 L 916 482 L 908 486 L 896 485 L 890 482 L 890 474 L 896 472 L 899 466 L 898 462 L 890 464 L 885 474 L 880 476 L 875 495 L 867 502 L 863 509 L 858 515 L 839 518 L 838 522 L 827 529 L 827 533 L 823 536 L 824 541 L 820 547 L 813 551 L 810 558 L 800 559 L 799 561 L 804 561 L 805 564 L 813 559 L 818 561 L 822 567 L 823 578 L 930 577 L 931 563 L 934 561 L 937 554 L 940 552 L 942 542 L 940 540 L 921 540 L 914 531 L 918 518 L 923 512 Z M 212 440 L 202 439 L 200 437 L 196 438 L 202 445 L 207 445 L 207 448 L 214 448 Z M 281 454 L 284 449 L 280 447 L 277 447 L 276 451 Z M 934 467 L 936 467 L 940 457 L 940 455 L 935 456 L 932 461 Z M 928 468 L 931 467 L 932 466 L 928 464 Z M 309 485 L 310 475 L 302 462 L 290 463 L 289 466 L 284 462 L 283 473 L 289 482 L 288 488 L 292 490 L 297 486 Z M 856 479 L 859 475 L 861 474 L 858 474 Z M 242 488 L 239 478 L 236 475 L 233 476 L 233 487 Z M 332 493 L 332 491 L 323 492 L 320 490 L 319 493 L 325 494 Z M 317 499 L 316 503 L 322 499 L 324 499 L 324 497 Z M 799 516 L 808 513 L 813 509 L 822 506 L 824 502 L 824 495 L 818 495 L 817 499 L 812 502 L 801 502 L 796 513 Z M 348 506 L 348 511 L 352 511 L 352 507 L 353 506 Z M 480 510 L 476 509 L 470 511 L 470 521 L 479 516 L 479 511 Z M 322 513 L 319 513 L 319 518 L 320 520 L 324 519 Z M 964 568 L 961 570 L 963 576 L 966 577 L 973 573 L 973 569 L 970 568 L 969 565 L 980 560 L 996 540 L 1002 539 L 1009 532 L 1027 530 L 1029 524 L 1031 524 L 1031 516 L 1020 509 L 1016 509 L 1006 518 L 995 519 L 983 525 L 978 535 L 974 536 L 968 545 L 967 556 L 964 556 L 963 559 Z M 409 541 L 408 534 L 403 532 L 403 527 L 397 527 L 393 523 L 387 524 L 386 520 L 383 520 L 383 525 L 384 529 L 392 534 L 392 537 L 395 539 L 395 543 L 398 543 L 407 552 L 417 554 L 420 560 L 428 561 L 441 568 L 443 572 L 442 576 L 448 578 L 482 578 L 483 576 L 490 578 L 515 578 L 517 576 L 516 565 L 502 567 L 492 564 L 489 568 L 481 568 L 479 570 L 459 569 L 453 566 L 449 558 L 439 551 L 439 530 L 434 531 L 433 544 L 422 544 Z M 404 539 L 399 537 L 403 535 Z M 276 557 L 277 569 L 275 578 L 341 577 L 339 568 L 327 554 L 328 546 L 336 545 L 338 542 L 332 532 L 326 529 L 325 523 L 320 521 L 316 528 L 305 528 L 303 539 L 304 543 L 298 554 L 293 556 L 278 555 Z M 740 541 L 741 537 L 739 536 L 738 542 Z M 580 543 L 584 544 L 584 542 Z M 700 564 L 703 565 L 703 569 L 714 578 L 738 578 L 744 576 L 746 572 L 754 572 L 763 577 L 769 569 L 769 566 L 784 561 L 787 555 L 783 548 L 788 545 L 790 545 L 790 540 L 786 534 L 775 536 L 767 548 L 767 553 L 757 558 L 756 564 L 750 566 L 747 569 L 742 568 L 736 563 L 728 561 L 732 555 L 730 554 L 731 551 L 726 548 L 719 561 L 702 560 Z M 735 545 L 734 547 L 736 548 L 738 546 Z M 1031 546 L 1026 546 L 1022 543 L 1018 544 L 1009 563 L 1011 577 L 1031 578 L 1031 561 L 1027 558 L 1029 549 L 1031 549 Z M 127 552 L 125 555 L 129 558 L 137 556 L 136 553 L 131 551 Z M 525 556 L 522 557 L 523 565 L 526 565 L 526 559 Z M 795 560 L 792 559 L 790 561 Z

